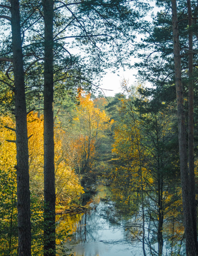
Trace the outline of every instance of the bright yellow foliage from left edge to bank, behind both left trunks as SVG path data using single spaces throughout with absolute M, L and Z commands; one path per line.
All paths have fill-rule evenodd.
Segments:
M 15 172 L 16 164 L 16 145 L 9 143 L 6 139 L 15 139 L 15 132 L 6 129 L 4 125 L 14 128 L 14 122 L 10 117 L 1 117 L 0 133 L 0 166 L 1 169 L 12 170 Z M 29 139 L 29 172 L 31 191 L 43 197 L 44 178 L 43 178 L 43 117 L 38 117 L 37 113 L 30 113 L 27 116 Z M 72 199 L 79 197 L 83 189 L 79 182 L 79 177 L 74 170 L 67 165 L 67 161 L 62 149 L 61 136 L 63 131 L 55 129 L 55 183 L 58 203 L 69 203 Z

